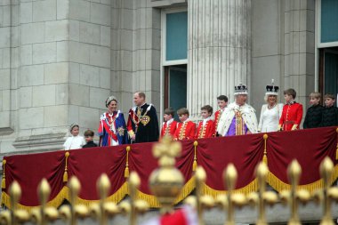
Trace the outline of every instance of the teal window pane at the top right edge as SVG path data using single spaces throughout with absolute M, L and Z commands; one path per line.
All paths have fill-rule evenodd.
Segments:
M 338 1 L 321 1 L 321 43 L 338 41 Z

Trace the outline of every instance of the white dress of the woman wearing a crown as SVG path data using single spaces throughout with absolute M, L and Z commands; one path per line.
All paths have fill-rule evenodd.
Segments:
M 273 108 L 268 108 L 268 104 L 262 105 L 260 124 L 258 130 L 262 133 L 277 132 L 279 118 L 282 115 L 283 104 L 279 103 Z

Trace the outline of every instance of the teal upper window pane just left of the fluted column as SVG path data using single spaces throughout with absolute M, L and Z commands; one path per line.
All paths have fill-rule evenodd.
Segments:
M 165 60 L 186 60 L 188 52 L 188 12 L 166 14 Z

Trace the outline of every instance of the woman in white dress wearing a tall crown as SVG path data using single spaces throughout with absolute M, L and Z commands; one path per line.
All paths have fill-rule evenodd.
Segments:
M 277 132 L 279 118 L 282 115 L 283 104 L 278 103 L 278 86 L 267 85 L 264 100 L 267 104 L 262 105 L 258 131 L 261 133 Z

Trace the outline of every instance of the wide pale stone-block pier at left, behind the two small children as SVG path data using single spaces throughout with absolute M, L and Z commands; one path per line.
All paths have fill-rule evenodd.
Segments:
M 110 1 L 13 2 L 20 32 L 18 59 L 15 52 L 10 57 L 12 65 L 18 64 L 17 79 L 11 74 L 18 90 L 11 97 L 18 104 L 12 145 L 19 151 L 61 149 L 70 124 L 80 125 L 80 134 L 96 131 L 105 110 Z

